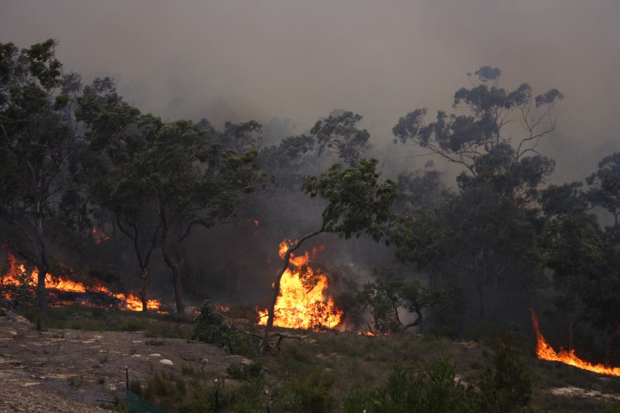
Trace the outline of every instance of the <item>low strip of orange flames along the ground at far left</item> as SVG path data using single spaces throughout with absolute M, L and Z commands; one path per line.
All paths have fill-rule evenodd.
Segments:
M 19 286 L 21 284 L 21 279 L 23 279 L 27 284 L 33 286 L 37 285 L 37 277 L 39 276 L 39 271 L 36 268 L 32 270 L 30 274 L 28 274 L 25 266 L 23 264 L 18 264 L 17 259 L 14 255 L 12 255 L 12 253 L 8 253 L 8 260 L 10 264 L 10 269 L 8 273 L 0 277 L 0 286 Z M 85 286 L 85 284 L 81 282 L 76 282 L 63 277 L 58 277 L 53 274 L 48 274 L 45 276 L 45 288 L 60 291 L 70 291 L 72 293 L 86 293 L 87 291 L 104 293 L 107 295 L 112 295 L 117 299 L 123 301 L 127 310 L 142 311 L 142 300 L 140 299 L 140 297 L 134 295 L 133 293 L 113 293 L 107 287 L 102 285 L 88 288 L 87 286 Z M 147 300 L 148 309 L 156 309 L 159 308 L 160 305 L 161 302 L 157 299 Z

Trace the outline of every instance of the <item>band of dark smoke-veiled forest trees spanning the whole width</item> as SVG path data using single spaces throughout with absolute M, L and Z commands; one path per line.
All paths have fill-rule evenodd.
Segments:
M 369 311 L 376 330 L 396 332 L 422 328 L 432 308 L 438 331 L 462 335 L 464 317 L 484 323 L 542 302 L 572 320 L 571 329 L 605 334 L 612 361 L 620 153 L 583 181 L 548 184 L 555 162 L 539 143 L 559 125 L 559 90 L 506 89 L 499 69 L 479 68 L 447 112 L 395 114 L 402 117 L 394 145 L 457 165 L 455 184 L 433 162 L 386 180 L 379 160 L 367 156 L 373 140 L 360 114 L 335 110 L 305 133 L 267 145 L 254 120 L 218 129 L 205 119 L 143 113 L 112 79 L 84 85 L 65 72 L 55 47 L 53 40 L 21 50 L 0 44 L 0 242 L 38 269 L 39 307 L 47 305 L 45 275 L 71 275 L 52 246 L 72 251 L 66 260 L 83 264 L 82 277 L 109 277 L 114 244 L 91 248 L 93 232 L 103 231 L 132 251 L 143 308 L 149 266 L 163 257 L 183 315 L 188 237 L 258 211 L 278 222 L 287 213 L 278 200 L 301 195 L 324 206 L 322 224 L 307 235 L 366 233 L 427 277 L 375 268 L 370 282 L 342 295 L 352 320 Z M 304 235 L 289 236 L 303 242 Z M 401 320 L 399 309 L 414 313 L 413 321 Z

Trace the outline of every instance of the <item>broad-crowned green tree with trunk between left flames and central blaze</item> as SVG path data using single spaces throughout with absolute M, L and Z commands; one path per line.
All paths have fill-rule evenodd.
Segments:
M 161 251 L 172 271 L 176 310 L 185 316 L 183 241 L 195 226 L 230 222 L 243 193 L 260 184 L 256 149 L 225 150 L 209 129 L 189 120 L 165 123 L 147 150 L 148 182 L 161 221 Z

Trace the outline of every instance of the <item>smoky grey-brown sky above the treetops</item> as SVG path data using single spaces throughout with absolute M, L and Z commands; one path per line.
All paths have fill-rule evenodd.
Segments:
M 343 108 L 389 159 L 405 152 L 390 146 L 400 116 L 451 109 L 465 74 L 491 65 L 505 87 L 564 92 L 542 147 L 556 180 L 620 150 L 617 0 L 1 1 L 1 42 L 50 37 L 65 70 L 113 76 L 165 119 L 278 116 L 304 130 Z

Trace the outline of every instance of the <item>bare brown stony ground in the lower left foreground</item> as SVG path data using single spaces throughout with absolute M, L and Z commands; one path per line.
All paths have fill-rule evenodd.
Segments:
M 125 399 L 126 367 L 130 381 L 144 383 L 158 372 L 217 374 L 247 362 L 205 343 L 139 331 L 37 331 L 7 313 L 0 317 L 0 412 L 103 412 L 97 406 Z

